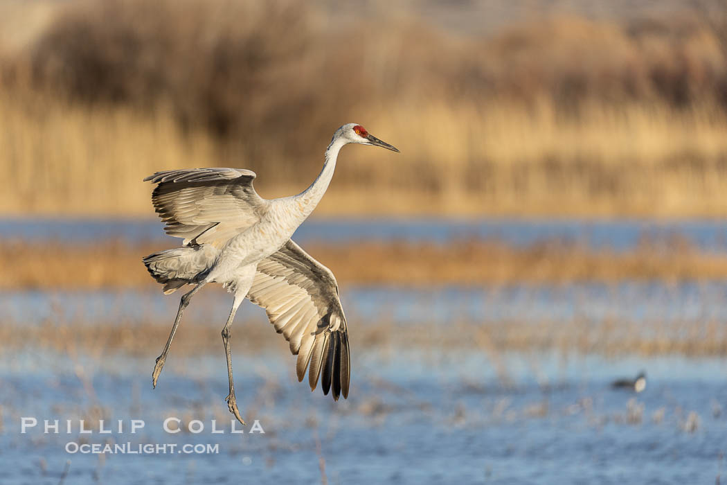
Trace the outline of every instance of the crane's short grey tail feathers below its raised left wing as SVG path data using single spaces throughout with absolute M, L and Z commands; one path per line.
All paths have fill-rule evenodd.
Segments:
M 211 246 L 185 246 L 149 254 L 142 261 L 157 283 L 164 284 L 164 293 L 177 291 L 185 284 L 197 283 L 214 261 Z

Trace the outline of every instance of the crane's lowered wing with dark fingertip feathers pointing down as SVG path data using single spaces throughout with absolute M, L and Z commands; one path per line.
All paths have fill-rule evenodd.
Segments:
M 323 393 L 348 397 L 350 353 L 346 317 L 331 270 L 292 240 L 257 265 L 247 297 L 265 308 L 270 323 L 297 355 L 298 380 L 308 371 L 310 390 L 321 375 Z

